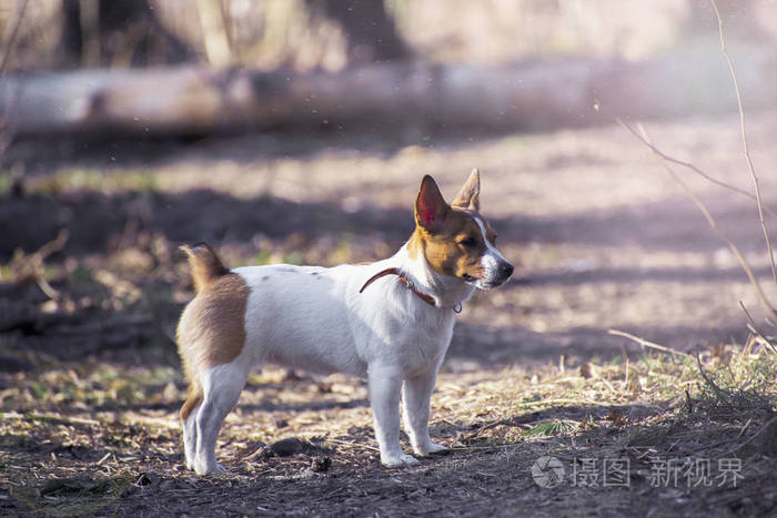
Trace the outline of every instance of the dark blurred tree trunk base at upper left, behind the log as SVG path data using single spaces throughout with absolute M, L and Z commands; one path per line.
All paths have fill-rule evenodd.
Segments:
M 63 0 L 61 38 L 64 67 L 141 67 L 193 57 L 148 0 Z

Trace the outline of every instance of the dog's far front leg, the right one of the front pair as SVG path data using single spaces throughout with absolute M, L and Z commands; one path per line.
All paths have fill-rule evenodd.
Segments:
M 445 446 L 432 443 L 428 436 L 430 399 L 436 378 L 437 370 L 430 369 L 427 373 L 405 379 L 402 390 L 405 429 L 416 455 L 424 456 L 447 449 Z

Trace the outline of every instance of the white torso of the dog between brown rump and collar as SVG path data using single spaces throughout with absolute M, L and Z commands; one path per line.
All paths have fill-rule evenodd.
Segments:
M 427 305 L 396 277 L 359 293 L 363 266 L 235 273 L 251 287 L 245 322 L 251 363 L 365 376 L 367 365 L 380 362 L 411 374 L 436 368 L 451 342 L 451 309 Z

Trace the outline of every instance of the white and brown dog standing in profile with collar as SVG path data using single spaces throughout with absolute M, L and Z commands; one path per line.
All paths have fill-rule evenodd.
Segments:
M 430 397 L 453 334 L 454 314 L 475 288 L 513 274 L 478 213 L 474 170 L 454 202 L 424 176 L 415 232 L 392 257 L 366 265 L 226 270 L 205 244 L 184 246 L 196 296 L 178 326 L 190 394 L 181 408 L 186 466 L 223 470 L 215 441 L 254 365 L 278 364 L 367 378 L 381 463 L 418 461 L 400 445 L 400 396 L 413 451 L 445 449 L 428 436 Z

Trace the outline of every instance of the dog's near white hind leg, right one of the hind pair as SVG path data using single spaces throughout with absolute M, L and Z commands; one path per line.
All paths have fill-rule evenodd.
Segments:
M 215 461 L 215 440 L 226 415 L 238 405 L 249 368 L 238 363 L 219 365 L 202 376 L 203 402 L 196 414 L 194 471 L 209 475 L 224 471 Z

